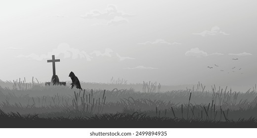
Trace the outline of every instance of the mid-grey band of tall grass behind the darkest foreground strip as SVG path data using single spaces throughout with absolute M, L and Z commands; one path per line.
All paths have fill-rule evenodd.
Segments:
M 208 92 L 200 82 L 196 89 L 169 92 L 158 92 L 156 82 L 155 85 L 147 83 L 157 93 L 152 90 L 142 93 L 133 89 L 79 91 L 68 86 L 44 86 L 39 82 L 26 88 L 25 79 L 24 83 L 18 80 L 8 83 L 14 87 L 0 87 L 0 109 L 5 112 L 37 113 L 39 116 L 138 112 L 153 117 L 220 121 L 257 117 L 255 90 L 241 93 L 214 85 L 213 90 Z

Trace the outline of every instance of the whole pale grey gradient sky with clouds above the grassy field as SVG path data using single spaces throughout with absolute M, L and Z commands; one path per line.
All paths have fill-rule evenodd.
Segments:
M 256 7 L 256 0 L 1 0 L 0 79 L 49 81 L 55 55 L 61 81 L 73 71 L 84 82 L 245 90 L 257 83 Z

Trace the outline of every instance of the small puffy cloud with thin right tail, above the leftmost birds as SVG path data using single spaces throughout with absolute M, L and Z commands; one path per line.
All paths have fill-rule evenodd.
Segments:
M 190 49 L 189 51 L 186 51 L 185 55 L 200 58 L 200 57 L 206 57 L 211 55 L 224 55 L 224 54 L 221 54 L 221 53 L 208 54 L 207 52 L 204 52 L 200 50 L 198 47 L 196 47 L 196 48 Z

